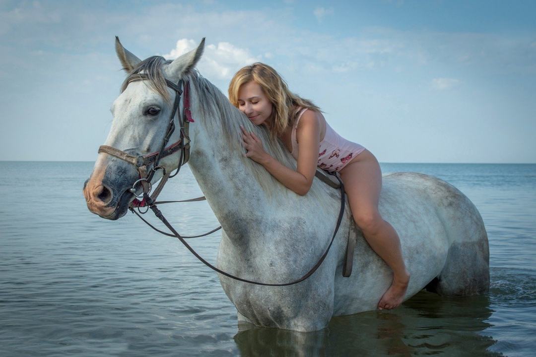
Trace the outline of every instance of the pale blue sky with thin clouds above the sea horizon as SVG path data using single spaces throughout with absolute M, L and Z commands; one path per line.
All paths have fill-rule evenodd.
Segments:
M 206 37 L 227 93 L 275 67 L 381 162 L 536 163 L 536 2 L 0 1 L 0 160 L 94 161 L 124 73 Z

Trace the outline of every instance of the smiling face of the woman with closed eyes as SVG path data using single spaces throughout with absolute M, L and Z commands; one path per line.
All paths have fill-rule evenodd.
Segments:
M 268 100 L 263 89 L 257 82 L 251 81 L 240 86 L 238 92 L 238 109 L 248 116 L 255 125 L 272 123 L 273 104 Z

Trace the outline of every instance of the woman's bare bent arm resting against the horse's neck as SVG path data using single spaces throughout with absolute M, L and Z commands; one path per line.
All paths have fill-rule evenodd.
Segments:
M 318 162 L 320 124 L 315 111 L 306 110 L 303 113 L 299 128 L 296 130 L 296 138 L 300 143 L 300 149 L 294 171 L 267 154 L 257 136 L 242 128 L 242 139 L 248 151 L 245 155 L 263 165 L 285 187 L 303 196 L 311 188 Z

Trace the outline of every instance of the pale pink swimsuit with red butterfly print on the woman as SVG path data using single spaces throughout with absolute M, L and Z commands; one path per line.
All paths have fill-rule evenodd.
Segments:
M 296 123 L 292 128 L 292 156 L 298 159 L 298 141 L 296 139 L 296 128 L 300 122 L 303 112 L 307 108 L 301 109 Z M 358 156 L 365 148 L 355 142 L 348 141 L 337 134 L 326 122 L 326 133 L 324 140 L 320 142 L 318 151 L 318 167 L 327 171 L 340 171 L 353 157 Z

